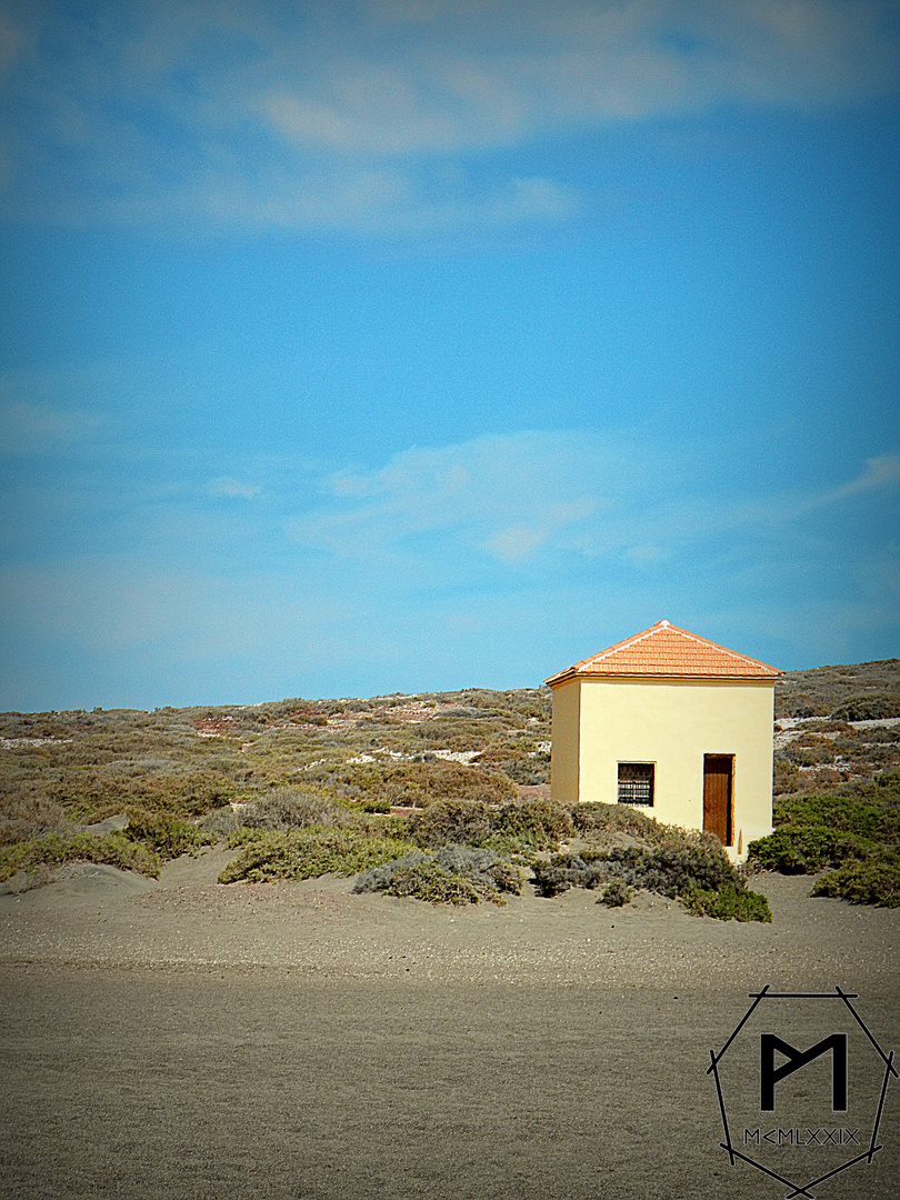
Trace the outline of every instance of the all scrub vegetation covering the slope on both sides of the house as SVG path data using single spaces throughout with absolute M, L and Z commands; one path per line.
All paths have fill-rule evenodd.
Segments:
M 779 827 L 754 844 L 757 866 L 824 870 L 818 894 L 898 902 L 900 739 L 852 724 L 900 712 L 898 666 L 779 683 Z M 546 689 L 2 714 L 0 880 L 77 860 L 158 876 L 215 844 L 233 851 L 223 883 L 336 874 L 436 904 L 584 887 L 610 907 L 643 889 L 698 916 L 770 919 L 714 839 L 626 806 L 553 804 L 550 714 Z

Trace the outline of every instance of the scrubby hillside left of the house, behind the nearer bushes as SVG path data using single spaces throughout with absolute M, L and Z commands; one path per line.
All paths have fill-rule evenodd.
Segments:
M 546 691 L 0 716 L 0 844 L 127 808 L 199 817 L 277 786 L 366 804 L 503 796 L 550 770 Z

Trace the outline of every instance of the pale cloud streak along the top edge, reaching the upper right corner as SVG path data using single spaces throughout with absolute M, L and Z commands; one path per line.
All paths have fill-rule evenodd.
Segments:
M 397 14 L 395 43 L 364 24 L 314 76 L 257 103 L 299 145 L 367 155 L 515 145 L 732 102 L 828 103 L 895 88 L 890 14 L 877 0 L 439 6 Z

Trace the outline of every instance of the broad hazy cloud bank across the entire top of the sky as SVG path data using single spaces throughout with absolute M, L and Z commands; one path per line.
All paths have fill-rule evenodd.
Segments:
M 566 220 L 586 203 L 571 185 L 485 173 L 486 152 L 720 106 L 895 92 L 894 7 L 132 2 L 115 19 L 97 5 L 88 37 L 38 2 L 0 28 L 19 114 L 7 211 L 365 233 Z

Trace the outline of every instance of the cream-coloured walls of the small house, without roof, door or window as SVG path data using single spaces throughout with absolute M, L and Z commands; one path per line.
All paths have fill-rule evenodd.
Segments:
M 581 800 L 617 803 L 618 763 L 655 764 L 653 815 L 670 824 L 703 827 L 703 755 L 734 755 L 734 847 L 772 832 L 772 722 L 775 689 L 764 680 L 581 679 L 553 692 L 553 760 L 560 798 L 571 794 L 569 732 L 578 689 L 575 758 Z M 562 701 L 557 754 L 556 707 Z M 553 794 L 557 794 L 556 785 Z

